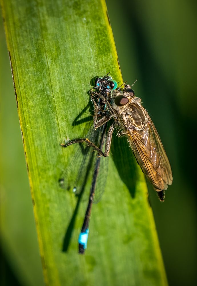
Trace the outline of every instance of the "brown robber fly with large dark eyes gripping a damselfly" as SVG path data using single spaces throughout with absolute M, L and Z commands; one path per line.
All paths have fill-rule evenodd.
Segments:
M 102 95 L 100 98 L 104 102 Z M 111 142 L 114 126 L 118 127 L 118 136 L 128 137 L 138 164 L 156 190 L 159 200 L 164 201 L 164 191 L 172 184 L 172 170 L 158 132 L 141 105 L 141 98 L 135 96 L 130 85 L 122 90 L 113 90 L 108 111 L 114 122 L 109 127 L 105 151 L 97 151 L 104 157 L 108 156 L 110 145 L 107 143 Z

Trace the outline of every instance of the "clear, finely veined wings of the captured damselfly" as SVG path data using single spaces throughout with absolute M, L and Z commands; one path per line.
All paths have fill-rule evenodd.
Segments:
M 91 125 L 91 128 L 85 137 L 92 141 L 96 146 L 100 146 L 103 132 L 105 132 L 104 126 L 95 130 Z M 89 188 L 90 190 L 96 162 L 97 160 L 100 160 L 94 200 L 95 202 L 98 202 L 105 187 L 108 163 L 107 158 L 99 158 L 97 152 L 91 146 L 88 146 L 87 143 L 73 144 L 67 148 L 73 148 L 74 154 L 70 158 L 69 166 L 59 179 L 61 187 L 73 191 L 75 194 L 80 194 L 85 188 Z M 67 148 L 65 148 L 65 152 Z M 103 172 L 104 170 L 105 172 Z

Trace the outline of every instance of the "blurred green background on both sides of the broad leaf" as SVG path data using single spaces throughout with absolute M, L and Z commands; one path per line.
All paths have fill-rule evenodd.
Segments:
M 170 285 L 196 282 L 196 2 L 108 0 L 123 79 L 133 83 L 162 139 L 173 184 L 149 186 Z M 33 207 L 3 21 L 0 23 L 1 282 L 43 285 Z

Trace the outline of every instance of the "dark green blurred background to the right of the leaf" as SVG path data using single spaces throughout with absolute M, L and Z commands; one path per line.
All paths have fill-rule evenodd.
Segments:
M 142 98 L 168 154 L 164 203 L 148 185 L 170 285 L 196 281 L 196 2 L 107 0 L 124 81 Z

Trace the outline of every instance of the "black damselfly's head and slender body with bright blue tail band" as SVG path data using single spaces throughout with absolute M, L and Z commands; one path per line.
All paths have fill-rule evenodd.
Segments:
M 94 106 L 94 116 L 93 116 L 94 126 L 97 128 L 100 127 L 98 129 L 98 132 L 95 132 L 94 134 L 91 132 L 91 134 L 93 134 L 93 140 L 97 142 L 98 147 L 87 138 L 86 139 L 77 138 L 75 140 L 70 140 L 69 142 L 60 144 L 62 147 L 67 147 L 74 143 L 87 142 L 95 150 L 97 149 L 99 151 L 102 150 L 105 139 L 106 139 L 107 122 L 111 118 L 111 113 L 113 113 L 113 109 L 111 108 L 109 104 L 111 100 L 111 90 L 115 90 L 117 88 L 117 85 L 118 85 L 117 82 L 115 80 L 112 80 L 112 78 L 108 76 L 107 74 L 106 76 L 95 78 L 95 86 L 90 90 L 90 98 Z M 100 96 L 102 96 L 103 99 L 101 99 Z M 110 132 L 110 130 L 108 130 L 108 132 Z M 110 145 L 110 143 L 111 142 L 109 142 L 108 144 Z M 90 190 L 90 196 L 89 196 L 89 203 L 87 206 L 81 233 L 79 235 L 79 241 L 78 241 L 79 242 L 79 253 L 81 254 L 83 254 L 85 249 L 87 248 L 87 240 L 88 240 L 88 234 L 89 234 L 89 221 L 90 221 L 90 216 L 91 216 L 92 204 L 93 204 L 93 200 L 95 196 L 95 188 L 96 188 L 96 183 L 98 179 L 98 172 L 99 172 L 100 160 L 101 160 L 101 156 L 98 153 L 97 153 L 97 158 L 96 158 L 95 166 L 94 166 L 94 172 L 93 172 L 93 178 L 92 178 L 91 190 Z M 59 182 L 62 184 L 62 179 L 60 179 Z M 73 190 L 77 191 L 77 188 L 74 187 Z

